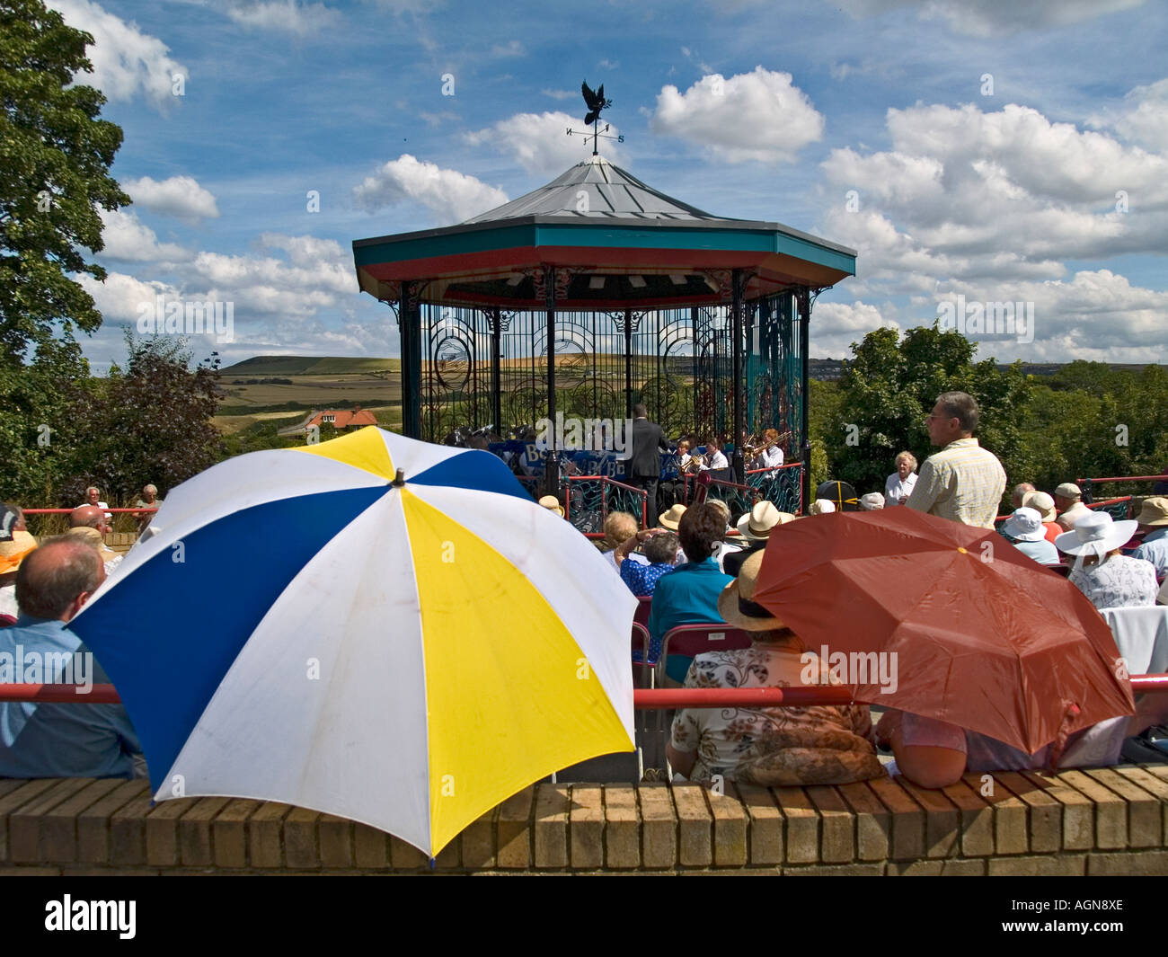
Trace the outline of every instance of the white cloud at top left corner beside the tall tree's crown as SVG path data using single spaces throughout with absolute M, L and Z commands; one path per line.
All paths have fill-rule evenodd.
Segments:
M 179 99 L 172 93 L 175 75 L 188 76 L 187 68 L 172 58 L 171 48 L 155 36 L 144 34 L 107 13 L 91 0 L 51 0 L 70 27 L 93 35 L 85 55 L 93 72 L 79 72 L 76 81 L 97 86 L 111 100 L 132 99 L 141 93 L 157 110 L 165 111 Z

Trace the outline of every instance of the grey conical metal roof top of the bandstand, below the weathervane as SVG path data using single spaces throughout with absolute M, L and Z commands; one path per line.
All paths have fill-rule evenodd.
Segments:
M 586 200 L 582 197 L 584 192 Z M 551 182 L 502 206 L 463 222 L 498 222 L 520 216 L 563 216 L 566 220 L 669 220 L 673 222 L 726 222 L 689 203 L 659 193 L 632 173 L 592 157 Z

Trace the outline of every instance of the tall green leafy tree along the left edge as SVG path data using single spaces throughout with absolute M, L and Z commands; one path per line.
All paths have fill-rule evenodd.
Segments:
M 0 460 L 5 493 L 32 500 L 71 453 L 64 410 L 89 375 L 74 330 L 102 324 L 70 275 L 105 278 L 83 250 L 102 249 L 100 210 L 130 202 L 109 175 L 121 130 L 98 119 L 105 97 L 69 85 L 92 42 L 40 0 L 0 0 Z

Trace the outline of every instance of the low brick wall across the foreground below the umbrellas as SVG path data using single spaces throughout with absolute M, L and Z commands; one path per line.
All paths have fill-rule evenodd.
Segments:
M 0 874 L 1168 874 L 1168 764 L 807 788 L 538 784 L 434 861 L 274 802 L 151 807 L 144 781 L 0 779 Z

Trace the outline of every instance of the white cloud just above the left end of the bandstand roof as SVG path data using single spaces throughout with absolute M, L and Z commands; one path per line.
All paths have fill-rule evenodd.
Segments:
M 507 202 L 507 194 L 457 169 L 419 162 L 409 153 L 390 160 L 353 189 L 359 209 L 375 213 L 399 202 L 416 202 L 442 226 L 461 222 Z

